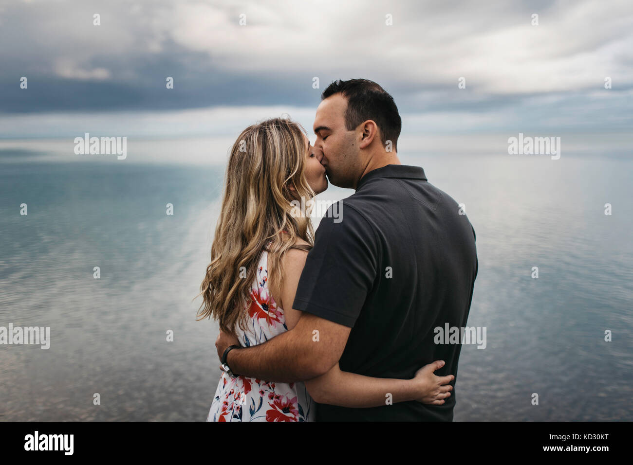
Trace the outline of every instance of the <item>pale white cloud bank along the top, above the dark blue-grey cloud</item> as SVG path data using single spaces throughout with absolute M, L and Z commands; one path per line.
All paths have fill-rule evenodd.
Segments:
M 49 51 L 53 69 L 58 59 L 73 60 L 75 69 L 58 71 L 64 77 L 103 78 L 92 59 L 160 53 L 173 40 L 208 54 L 219 70 L 251 75 L 391 73 L 421 88 L 456 87 L 464 76 L 488 94 L 591 88 L 596 74 L 607 72 L 633 81 L 631 67 L 621 65 L 633 58 L 628 0 L 561 1 L 533 10 L 505 1 L 442 8 L 363 0 L 64 3 L 69 8 L 38 4 L 39 13 L 30 11 L 32 22 L 23 25 Z M 92 25 L 97 10 L 100 27 Z M 538 26 L 530 25 L 532 11 Z M 239 25 L 242 13 L 246 26 Z M 387 13 L 392 26 L 385 25 Z

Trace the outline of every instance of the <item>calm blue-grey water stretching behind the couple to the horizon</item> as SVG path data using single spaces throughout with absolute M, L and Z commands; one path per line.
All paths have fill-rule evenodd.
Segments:
M 41 147 L 0 147 L 0 326 L 51 326 L 52 339 L 0 345 L 0 419 L 204 420 L 217 326 L 195 321 L 192 298 L 224 167 L 66 162 Z M 633 161 L 401 159 L 465 204 L 477 232 L 468 325 L 486 326 L 487 347 L 462 349 L 455 420 L 632 420 Z

